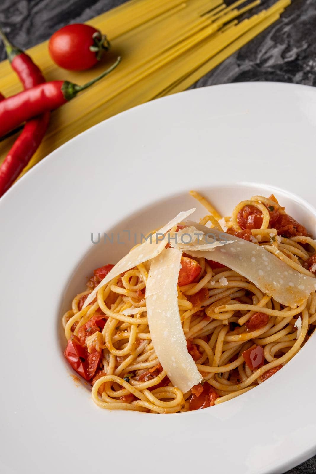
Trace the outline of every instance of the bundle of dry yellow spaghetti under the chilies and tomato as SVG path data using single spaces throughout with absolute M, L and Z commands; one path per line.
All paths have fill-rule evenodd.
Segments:
M 187 89 L 205 73 L 280 18 L 290 0 L 279 0 L 238 23 L 238 17 L 260 0 L 238 0 L 226 6 L 223 0 L 131 0 L 89 23 L 107 32 L 112 51 L 108 64 L 122 56 L 120 68 L 87 90 L 73 103 L 55 111 L 42 145 L 24 173 L 55 148 L 83 130 L 123 110 L 163 95 Z M 47 81 L 60 80 L 58 69 L 47 54 L 47 43 L 31 48 Z M 104 70 L 67 73 L 75 83 L 90 81 Z M 0 65 L 0 90 L 5 96 L 19 91 L 18 80 L 8 62 Z M 1 160 L 13 143 L 1 144 Z

